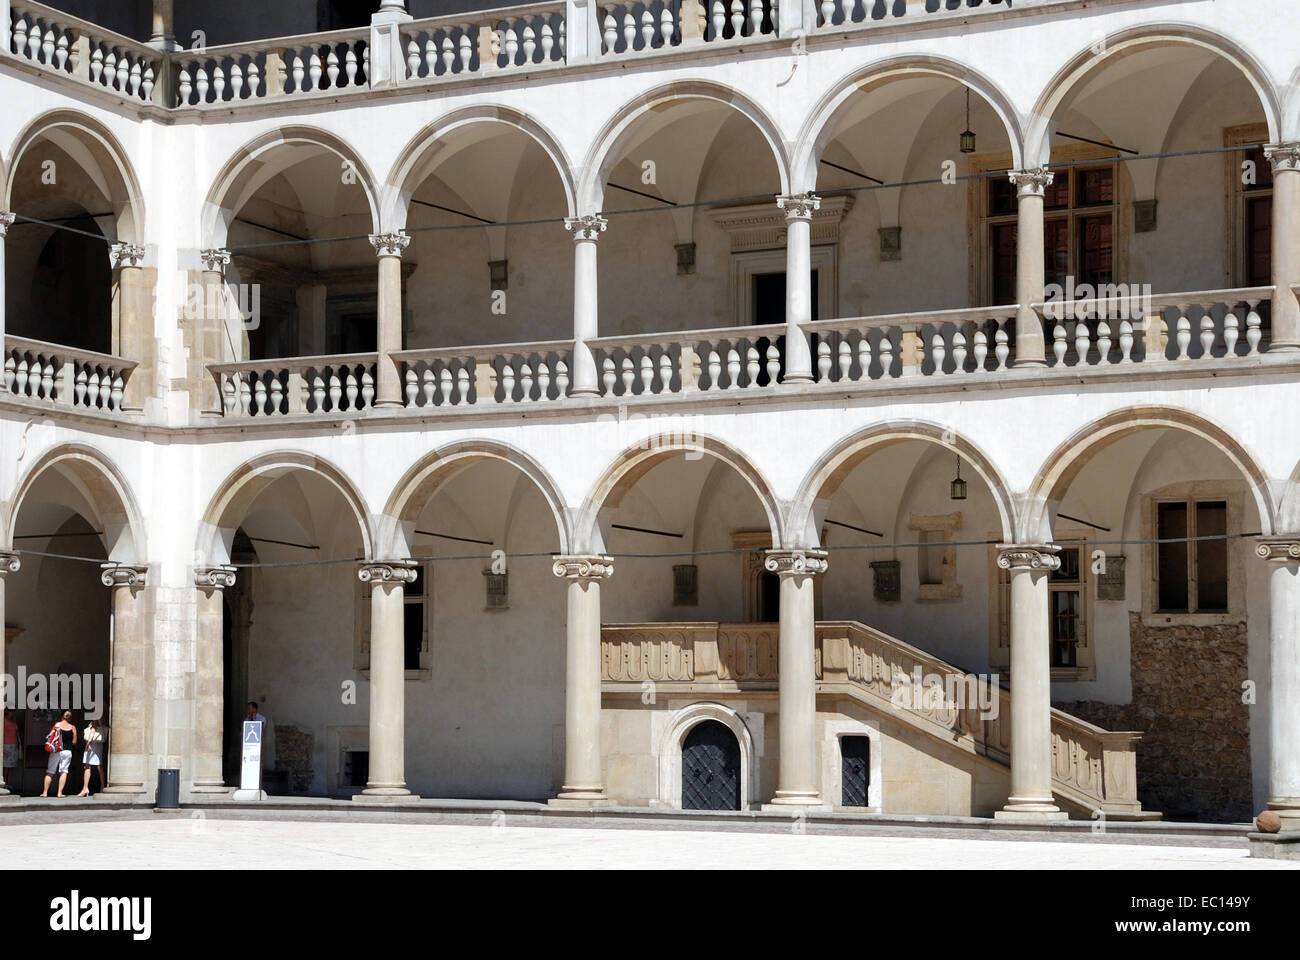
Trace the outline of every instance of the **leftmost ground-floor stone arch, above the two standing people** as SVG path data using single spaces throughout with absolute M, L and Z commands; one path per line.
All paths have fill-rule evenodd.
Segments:
M 117 563 L 143 563 L 148 540 L 144 520 L 131 488 L 117 466 L 84 444 L 62 444 L 47 450 L 23 475 L 0 518 L 0 544 L 13 549 L 13 532 L 27 496 L 47 471 L 56 471 L 75 487 L 103 527 L 104 553 Z M 90 518 L 88 518 L 90 519 Z

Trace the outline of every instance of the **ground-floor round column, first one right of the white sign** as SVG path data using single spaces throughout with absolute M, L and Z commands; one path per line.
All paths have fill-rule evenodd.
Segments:
M 370 778 L 354 800 L 419 800 L 406 786 L 406 584 L 419 565 L 410 559 L 367 562 L 358 570 L 370 584 Z

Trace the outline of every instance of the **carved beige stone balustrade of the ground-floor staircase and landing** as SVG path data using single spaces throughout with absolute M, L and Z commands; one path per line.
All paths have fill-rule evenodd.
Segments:
M 640 691 L 651 682 L 681 693 L 771 691 L 780 682 L 779 636 L 775 623 L 606 624 L 601 678 L 614 689 L 630 684 Z M 814 658 L 819 692 L 848 691 L 878 709 L 902 710 L 945 743 L 1010 762 L 1013 697 L 991 678 L 853 620 L 818 623 Z M 1053 791 L 1109 817 L 1141 816 L 1140 739 L 1052 710 Z

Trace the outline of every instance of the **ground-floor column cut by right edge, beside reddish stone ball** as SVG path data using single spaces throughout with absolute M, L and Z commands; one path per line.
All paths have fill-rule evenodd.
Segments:
M 1254 552 L 1269 562 L 1269 809 L 1300 830 L 1300 539 Z

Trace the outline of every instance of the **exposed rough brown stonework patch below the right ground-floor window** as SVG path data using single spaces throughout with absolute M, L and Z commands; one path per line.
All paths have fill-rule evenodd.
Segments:
M 1242 702 L 1245 623 L 1148 626 L 1128 614 L 1132 702 L 1054 706 L 1106 730 L 1140 730 L 1138 797 L 1166 820 L 1248 821 L 1251 730 Z

